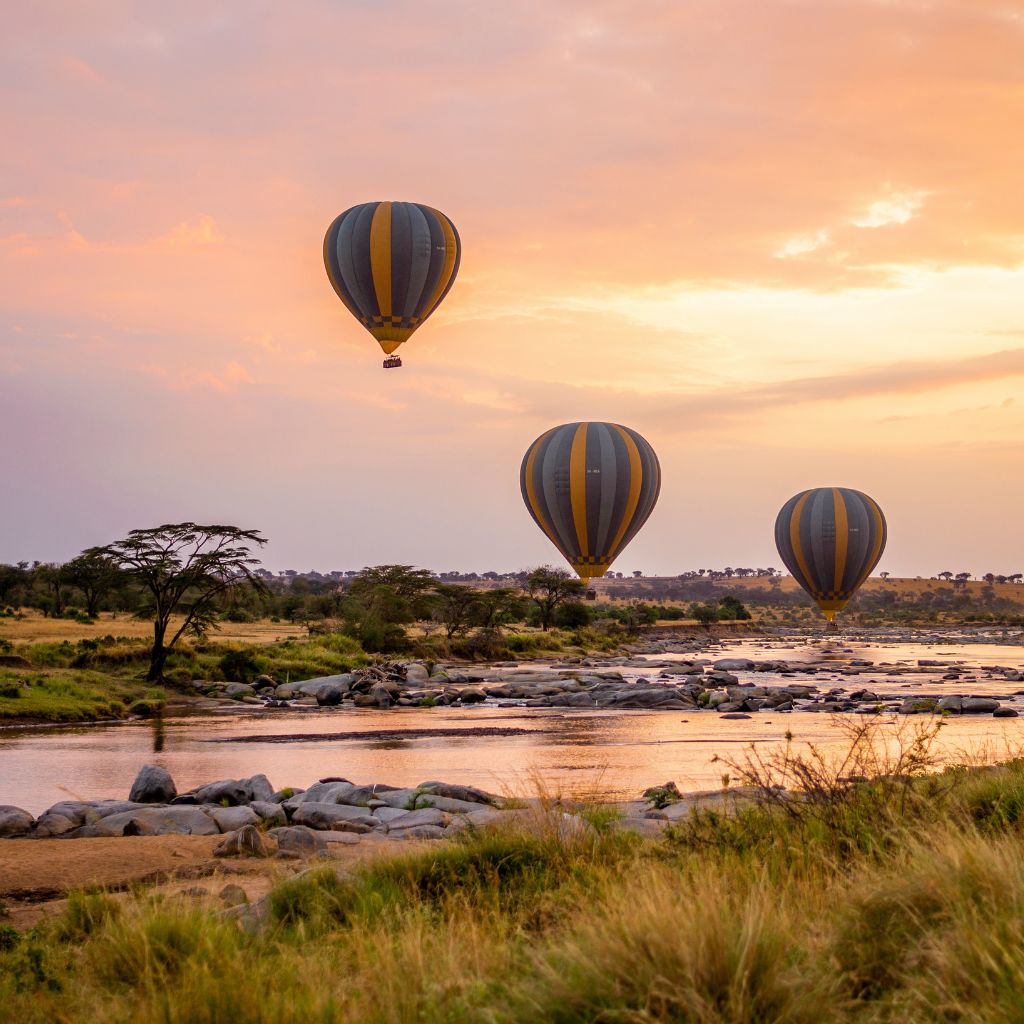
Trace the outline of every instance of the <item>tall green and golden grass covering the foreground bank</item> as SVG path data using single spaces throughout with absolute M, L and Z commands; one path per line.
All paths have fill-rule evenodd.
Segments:
M 1016 1020 L 1024 770 L 924 754 L 860 782 L 804 760 L 815 800 L 766 786 L 656 838 L 547 803 L 360 860 L 72 895 L 0 922 L 0 999 L 26 1024 Z

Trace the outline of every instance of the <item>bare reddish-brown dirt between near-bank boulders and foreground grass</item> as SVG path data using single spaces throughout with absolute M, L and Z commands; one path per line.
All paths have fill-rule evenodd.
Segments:
M 121 839 L 0 840 L 0 923 L 24 930 L 62 912 L 67 894 L 99 887 L 125 891 L 137 885 L 219 905 L 217 894 L 232 883 L 250 902 L 309 861 L 249 857 L 215 858 L 221 836 L 133 836 Z M 354 846 L 331 844 L 330 860 L 354 867 L 375 857 L 396 856 L 423 842 L 361 837 Z M 206 894 L 193 891 L 205 889 Z M 0 911 L 2 912 L 2 911 Z

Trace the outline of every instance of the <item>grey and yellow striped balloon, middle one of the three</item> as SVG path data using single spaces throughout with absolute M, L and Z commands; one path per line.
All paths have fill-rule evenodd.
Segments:
M 629 427 L 565 423 L 530 444 L 519 484 L 534 520 L 587 583 L 604 575 L 647 521 L 662 467 Z

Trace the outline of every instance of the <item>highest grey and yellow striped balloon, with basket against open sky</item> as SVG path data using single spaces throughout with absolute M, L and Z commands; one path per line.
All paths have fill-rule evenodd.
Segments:
M 324 237 L 327 275 L 348 311 L 380 342 L 384 368 L 437 308 L 459 272 L 455 224 L 422 203 L 362 203 Z

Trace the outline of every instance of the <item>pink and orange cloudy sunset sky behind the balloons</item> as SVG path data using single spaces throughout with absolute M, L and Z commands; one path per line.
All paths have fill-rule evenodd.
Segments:
M 881 569 L 1024 569 L 1024 0 L 41 0 L 0 51 L 0 560 L 557 562 L 519 463 L 595 419 L 662 461 L 616 569 L 778 566 L 817 485 Z M 322 257 L 384 199 L 463 243 L 387 373 Z

